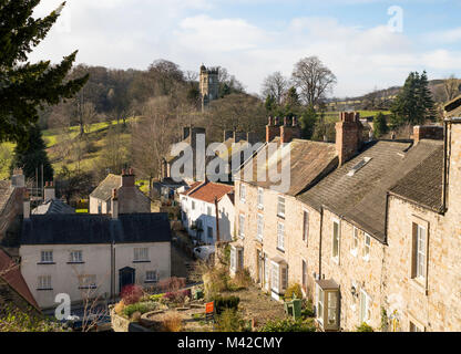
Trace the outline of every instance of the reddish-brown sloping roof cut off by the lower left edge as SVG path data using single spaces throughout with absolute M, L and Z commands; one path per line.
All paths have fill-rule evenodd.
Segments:
M 22 278 L 19 267 L 11 258 L 0 249 L 0 278 L 6 281 L 21 298 L 40 311 L 24 278 Z

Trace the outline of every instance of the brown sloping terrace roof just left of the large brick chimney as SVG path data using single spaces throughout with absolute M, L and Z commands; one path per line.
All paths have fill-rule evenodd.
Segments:
M 279 144 L 280 138 L 276 137 L 272 143 Z M 269 168 L 277 166 L 281 170 L 281 163 L 288 163 L 287 156 L 290 156 L 290 185 L 287 195 L 296 196 L 309 186 L 316 184 L 322 176 L 331 171 L 338 165 L 336 146 L 331 143 L 313 142 L 304 139 L 294 139 L 290 144 L 281 149 L 281 154 L 272 152 L 270 148 L 264 146 L 253 159 L 253 180 L 247 181 L 263 188 L 270 188 L 274 183 L 268 177 Z M 274 149 L 275 150 L 275 149 Z M 258 158 L 266 154 L 267 160 L 264 166 L 258 165 Z M 281 156 L 281 157 L 280 157 Z M 245 179 L 245 174 L 250 176 L 252 164 L 247 160 L 244 167 L 237 173 L 236 177 Z M 258 170 L 266 173 L 266 181 L 258 181 Z

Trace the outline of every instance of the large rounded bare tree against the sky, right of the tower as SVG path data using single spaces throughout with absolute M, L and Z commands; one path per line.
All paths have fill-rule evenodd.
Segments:
M 304 58 L 291 74 L 300 96 L 307 105 L 317 106 L 337 83 L 335 74 L 317 56 Z

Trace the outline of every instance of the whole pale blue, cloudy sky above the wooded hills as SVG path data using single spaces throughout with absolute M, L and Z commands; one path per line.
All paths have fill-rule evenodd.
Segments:
M 43 0 L 35 14 L 61 1 Z M 392 21 L 399 13 L 402 22 Z M 460 15 L 461 0 L 68 0 L 31 60 L 79 49 L 79 63 L 109 67 L 161 58 L 184 70 L 221 65 L 259 93 L 268 74 L 289 76 L 317 55 L 338 77 L 332 94 L 354 96 L 402 84 L 414 70 L 461 76 Z

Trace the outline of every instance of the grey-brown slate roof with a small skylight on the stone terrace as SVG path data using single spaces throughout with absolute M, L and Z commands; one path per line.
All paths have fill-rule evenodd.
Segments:
M 413 147 L 410 142 L 368 143 L 358 156 L 298 198 L 317 210 L 326 207 L 383 242 L 388 190 L 441 145 L 442 142 L 424 139 Z M 349 176 L 366 157 L 371 159 Z

